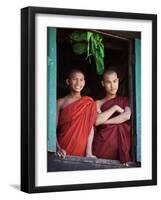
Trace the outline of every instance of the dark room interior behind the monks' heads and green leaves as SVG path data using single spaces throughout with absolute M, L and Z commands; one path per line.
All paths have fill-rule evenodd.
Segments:
M 66 75 L 73 68 L 81 69 L 85 73 L 86 86 L 82 91 L 82 95 L 88 95 L 94 99 L 100 99 L 104 96 L 101 86 L 101 76 L 96 73 L 95 60 L 91 60 L 91 64 L 85 59 L 86 54 L 76 55 L 73 52 L 72 45 L 69 41 L 69 34 L 76 29 L 57 29 L 57 98 L 63 97 L 68 93 L 65 83 Z M 77 30 L 78 31 L 78 30 Z M 86 30 L 79 30 L 86 31 Z M 91 30 L 98 32 L 97 30 Z M 122 32 L 115 31 L 99 31 L 103 35 L 103 43 L 105 47 L 104 64 L 105 69 L 112 66 L 118 73 L 120 86 L 118 93 L 120 95 L 129 94 L 129 45 L 128 40 L 124 39 L 120 34 Z M 115 37 L 120 35 L 120 37 Z M 130 35 L 131 36 L 131 35 Z

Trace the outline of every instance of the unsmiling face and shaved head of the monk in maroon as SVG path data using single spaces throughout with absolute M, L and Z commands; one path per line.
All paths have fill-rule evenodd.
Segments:
M 108 93 L 108 95 L 116 95 L 119 87 L 119 79 L 117 74 L 115 72 L 104 74 L 102 86 L 105 88 L 105 91 Z

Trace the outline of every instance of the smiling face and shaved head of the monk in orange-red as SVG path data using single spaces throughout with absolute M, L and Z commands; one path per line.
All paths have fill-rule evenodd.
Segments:
M 72 73 L 66 82 L 70 89 L 74 92 L 81 92 L 85 86 L 84 75 L 81 72 Z

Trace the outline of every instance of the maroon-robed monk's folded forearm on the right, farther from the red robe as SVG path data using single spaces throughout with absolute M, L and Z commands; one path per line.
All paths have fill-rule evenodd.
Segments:
M 118 116 L 108 119 L 104 122 L 104 124 L 121 124 L 126 122 L 131 117 L 131 109 L 130 107 L 125 107 L 125 111 L 120 113 Z

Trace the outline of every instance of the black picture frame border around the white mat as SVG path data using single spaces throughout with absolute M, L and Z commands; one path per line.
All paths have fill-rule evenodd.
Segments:
M 54 186 L 35 185 L 35 16 L 58 14 L 84 17 L 150 20 L 152 22 L 152 177 L 147 180 Z M 157 15 L 62 8 L 21 9 L 21 190 L 27 193 L 103 189 L 157 184 Z

